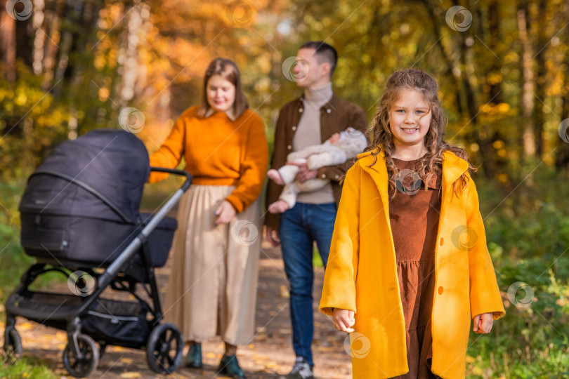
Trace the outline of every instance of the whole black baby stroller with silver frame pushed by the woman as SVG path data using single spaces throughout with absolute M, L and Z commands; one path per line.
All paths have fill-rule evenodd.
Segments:
M 140 214 L 151 170 L 186 179 L 155 215 Z M 177 227 L 166 213 L 191 180 L 186 171 L 150 168 L 145 146 L 126 131 L 91 131 L 55 147 L 30 176 L 20 203 L 22 246 L 37 262 L 6 300 L 4 350 L 22 354 L 15 329 L 21 316 L 67 331 L 63 364 L 71 375 L 89 375 L 107 345 L 145 349 L 152 371 L 174 371 L 183 340 L 175 325 L 159 324 L 155 267 L 166 263 Z M 30 288 L 54 271 L 69 278 L 70 293 Z M 135 300 L 103 298 L 109 287 Z

